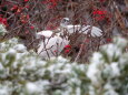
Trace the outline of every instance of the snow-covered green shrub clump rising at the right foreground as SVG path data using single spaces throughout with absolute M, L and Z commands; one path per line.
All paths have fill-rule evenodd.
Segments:
M 91 80 L 90 95 L 128 94 L 128 45 L 122 38 L 115 38 L 100 52 L 93 53 L 87 76 Z

